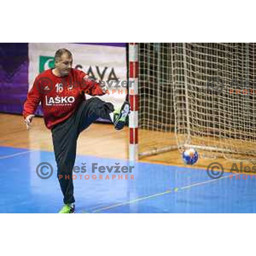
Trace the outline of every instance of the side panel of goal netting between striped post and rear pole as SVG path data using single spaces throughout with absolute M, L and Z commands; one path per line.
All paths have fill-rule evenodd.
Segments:
M 170 44 L 139 44 L 139 154 L 177 148 Z

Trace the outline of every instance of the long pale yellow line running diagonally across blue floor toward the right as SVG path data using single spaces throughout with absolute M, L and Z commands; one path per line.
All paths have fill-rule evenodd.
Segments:
M 236 174 L 236 175 L 239 175 L 239 174 Z M 236 176 L 236 175 L 234 175 L 234 176 Z M 203 184 L 207 184 L 207 183 L 211 183 L 211 182 L 214 182 L 214 181 L 222 180 L 222 179 L 225 179 L 227 177 L 230 177 L 230 175 L 220 177 L 219 179 L 215 179 L 215 180 L 211 179 L 211 180 L 204 180 L 202 182 L 192 183 L 190 185 L 182 186 L 180 188 L 177 188 L 177 191 L 184 190 L 184 189 L 190 189 L 194 186 L 200 186 L 200 185 L 203 185 Z M 166 195 L 166 194 L 169 194 L 171 192 L 175 192 L 175 189 L 166 190 L 164 192 L 160 192 L 160 193 L 156 193 L 156 194 L 152 194 L 152 195 L 146 195 L 146 196 L 135 198 L 135 199 L 132 199 L 132 200 L 128 200 L 128 201 L 125 201 L 125 202 L 122 202 L 122 203 L 119 203 L 119 204 L 113 204 L 113 205 L 108 206 L 108 207 L 102 207 L 102 208 L 99 208 L 99 209 L 92 210 L 91 213 L 101 212 L 101 211 L 104 211 L 104 210 L 107 210 L 107 209 L 112 209 L 112 208 L 115 208 L 115 207 L 124 206 L 126 204 L 133 204 L 133 203 L 143 201 L 143 200 L 146 200 L 146 199 L 149 199 L 149 198 L 155 198 L 155 197 L 158 197 L 158 196 L 161 196 L 161 195 Z

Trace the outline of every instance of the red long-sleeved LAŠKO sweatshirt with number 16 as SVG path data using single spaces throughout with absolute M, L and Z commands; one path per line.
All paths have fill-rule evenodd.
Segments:
M 84 76 L 86 73 L 75 69 L 64 77 L 55 76 L 51 69 L 38 75 L 24 103 L 24 118 L 34 114 L 41 102 L 45 125 L 51 129 L 76 111 L 81 101 L 85 100 L 84 93 L 104 95 L 99 84 L 84 79 Z

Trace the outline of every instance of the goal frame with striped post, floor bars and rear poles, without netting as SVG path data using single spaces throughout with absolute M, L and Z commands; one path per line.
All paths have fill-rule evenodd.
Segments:
M 180 56 L 183 57 L 183 65 L 186 66 L 186 43 L 181 43 L 182 45 L 182 51 L 180 52 Z M 175 116 L 175 140 L 177 142 L 176 145 L 165 145 L 165 147 L 163 148 L 153 148 L 151 150 L 148 151 L 143 151 L 140 152 L 139 151 L 139 78 L 140 78 L 140 73 L 139 73 L 139 69 L 140 69 L 140 43 L 128 43 L 128 91 L 129 91 L 129 102 L 131 105 L 131 113 L 129 115 L 129 160 L 132 161 L 137 161 L 139 160 L 140 157 L 147 157 L 150 155 L 154 155 L 154 154 L 160 154 L 166 151 L 171 151 L 171 150 L 175 150 L 175 149 L 179 149 L 180 151 L 183 150 L 184 148 L 190 148 L 193 147 L 195 149 L 198 150 L 204 150 L 204 151 L 210 151 L 210 152 L 219 152 L 222 154 L 222 157 L 227 158 L 227 159 L 233 159 L 233 160 L 237 160 L 236 157 L 238 157 L 238 155 L 242 155 L 245 154 L 245 151 L 242 151 L 242 148 L 236 148 L 236 151 L 233 151 L 233 149 L 231 148 L 226 148 L 224 145 L 218 145 L 218 146 L 211 146 L 211 145 L 200 145 L 197 143 L 194 143 L 193 141 L 191 141 L 191 128 L 190 128 L 190 121 L 189 121 L 189 102 L 188 102 L 188 81 L 186 81 L 187 79 L 187 74 L 186 71 L 187 69 L 184 68 L 184 96 L 185 97 L 185 106 L 186 106 L 186 112 L 184 113 L 184 120 L 186 120 L 186 125 L 187 127 L 186 129 L 186 140 L 182 143 L 182 146 L 179 144 L 178 142 L 178 135 L 179 135 L 179 131 L 177 130 L 177 116 Z M 254 48 L 253 48 L 254 50 Z M 246 48 L 246 53 L 247 55 L 249 54 L 249 48 Z M 172 65 L 172 62 L 171 62 Z M 248 65 L 249 65 L 249 60 L 247 60 L 246 62 L 246 69 L 248 70 Z M 173 70 L 173 67 L 172 67 Z M 171 71 L 172 72 L 172 71 Z M 249 71 L 248 71 L 249 72 Z M 209 76 L 209 74 L 207 74 Z M 248 73 L 249 76 L 249 73 Z M 172 76 L 173 77 L 173 76 Z M 174 81 L 173 81 L 174 82 Z M 175 90 L 175 87 L 173 87 L 173 90 Z M 175 95 L 175 92 L 174 94 Z M 175 105 L 174 108 L 177 108 L 177 106 Z M 177 109 L 174 109 L 175 115 L 177 114 Z M 141 134 L 141 136 L 143 136 L 143 134 Z M 228 139 L 228 137 L 227 137 Z M 221 156 L 221 154 L 219 154 Z M 231 157 L 227 156 L 226 154 L 232 154 Z M 236 156 L 237 154 L 237 156 Z M 253 157 L 255 158 L 255 152 L 250 153 L 248 151 L 246 151 L 246 155 L 249 155 L 249 158 Z M 234 158 L 235 157 L 235 158 Z

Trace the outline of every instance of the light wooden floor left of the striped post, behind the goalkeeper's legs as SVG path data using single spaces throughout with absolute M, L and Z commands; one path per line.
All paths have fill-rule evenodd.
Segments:
M 77 153 L 108 158 L 128 158 L 128 128 L 116 131 L 111 124 L 93 124 L 80 134 Z M 42 117 L 27 131 L 20 115 L 0 113 L 0 145 L 53 151 L 52 137 Z

